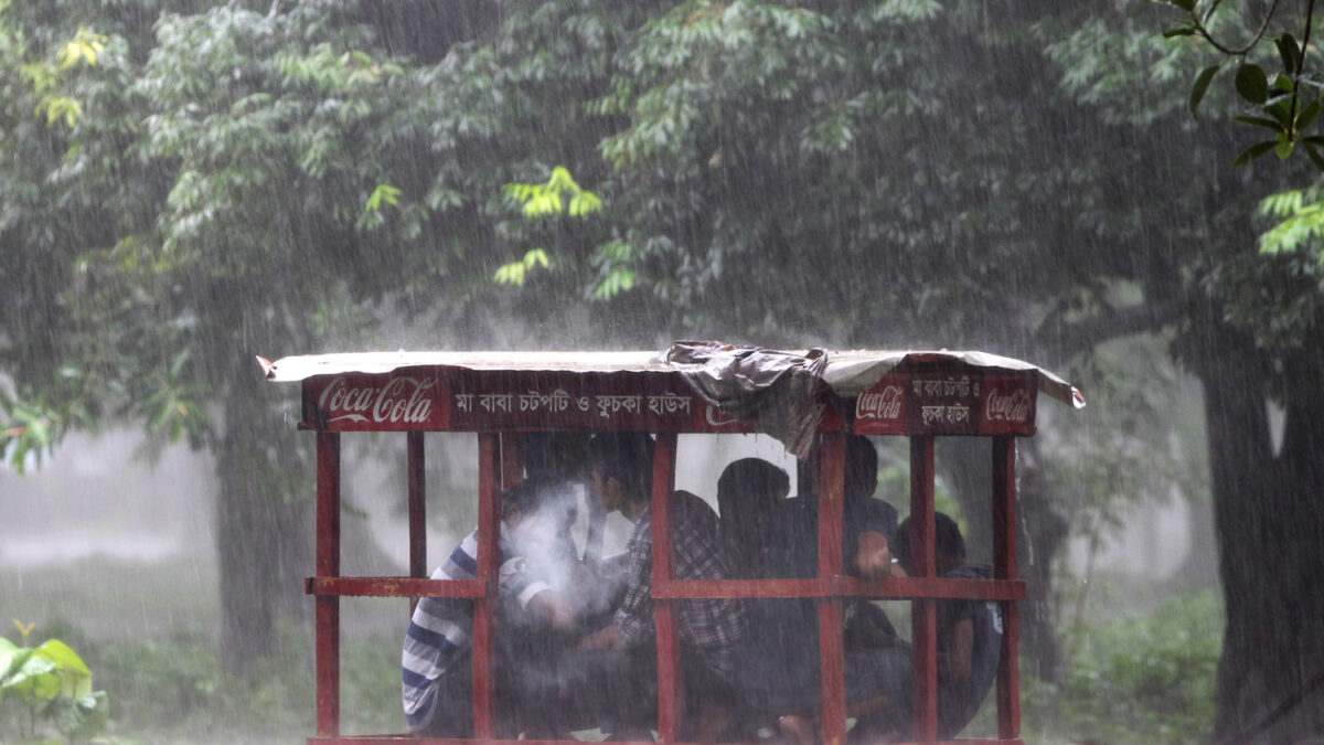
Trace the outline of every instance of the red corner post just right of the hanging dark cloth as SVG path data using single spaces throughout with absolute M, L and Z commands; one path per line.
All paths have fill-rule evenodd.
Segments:
M 818 578 L 842 571 L 842 514 L 845 513 L 846 435 L 826 432 L 818 463 Z M 818 672 L 822 691 L 824 745 L 846 742 L 846 652 L 842 640 L 841 598 L 818 599 Z

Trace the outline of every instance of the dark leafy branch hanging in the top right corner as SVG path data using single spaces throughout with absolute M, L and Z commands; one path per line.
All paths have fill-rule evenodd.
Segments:
M 1223 57 L 1196 76 L 1190 87 L 1190 113 L 1197 114 L 1214 77 L 1223 68 L 1235 66 L 1233 87 L 1250 110 L 1233 119 L 1256 130 L 1267 130 L 1264 137 L 1271 137 L 1243 150 L 1233 164 L 1245 166 L 1270 152 L 1286 160 L 1300 146 L 1311 162 L 1324 171 L 1324 137 L 1305 134 L 1319 118 L 1320 94 L 1324 91 L 1324 77 L 1307 72 L 1315 0 L 1308 0 L 1305 17 L 1300 21 L 1300 41 L 1288 30 L 1268 36 L 1280 5 L 1280 0 L 1274 0 L 1253 37 L 1241 45 L 1221 41 L 1213 30 L 1222 0 L 1168 3 L 1181 9 L 1186 17 L 1164 32 L 1166 38 L 1198 37 Z M 1271 61 L 1272 54 L 1262 53 L 1263 45 L 1270 42 L 1276 52 L 1276 62 Z

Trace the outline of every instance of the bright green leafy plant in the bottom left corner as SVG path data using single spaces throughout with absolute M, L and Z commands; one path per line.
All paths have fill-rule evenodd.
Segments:
M 0 638 L 0 715 L 16 704 L 25 708 L 15 725 L 24 741 L 110 742 L 99 737 L 109 717 L 106 692 L 93 691 L 82 658 L 58 639 L 29 647 L 32 624 L 15 626 L 19 644 Z M 60 738 L 44 737 L 46 732 Z

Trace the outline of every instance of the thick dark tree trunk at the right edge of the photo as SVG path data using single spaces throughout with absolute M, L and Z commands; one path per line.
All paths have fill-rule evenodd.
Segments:
M 1290 402 L 1274 457 L 1267 375 L 1231 333 L 1200 365 L 1227 630 L 1218 667 L 1221 742 L 1301 742 L 1324 734 L 1324 407 Z M 1313 398 L 1313 391 L 1301 395 Z

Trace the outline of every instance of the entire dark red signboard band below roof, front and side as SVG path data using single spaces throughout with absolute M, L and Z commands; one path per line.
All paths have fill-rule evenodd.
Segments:
M 1033 435 L 1027 372 L 891 372 L 855 399 L 861 435 Z M 849 399 L 847 399 L 849 400 Z M 820 431 L 845 427 L 822 404 Z M 847 410 L 846 414 L 850 411 Z M 752 432 L 667 372 L 493 374 L 405 367 L 305 380 L 305 426 L 328 432 L 577 430 Z

